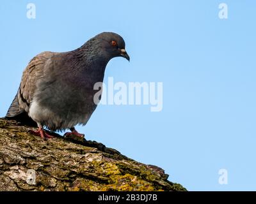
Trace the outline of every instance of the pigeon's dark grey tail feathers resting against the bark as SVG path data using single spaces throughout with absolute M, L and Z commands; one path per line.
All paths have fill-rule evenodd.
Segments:
M 37 127 L 36 122 L 28 116 L 28 113 L 25 110 L 20 109 L 19 101 L 18 101 L 18 94 L 16 94 L 15 98 L 12 101 L 10 108 L 5 116 L 6 119 L 9 120 L 17 120 L 21 124 Z

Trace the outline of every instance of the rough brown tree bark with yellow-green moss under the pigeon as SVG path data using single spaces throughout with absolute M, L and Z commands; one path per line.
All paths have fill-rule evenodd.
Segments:
M 0 119 L 0 191 L 186 191 L 157 166 L 102 143 L 58 136 L 43 141 Z

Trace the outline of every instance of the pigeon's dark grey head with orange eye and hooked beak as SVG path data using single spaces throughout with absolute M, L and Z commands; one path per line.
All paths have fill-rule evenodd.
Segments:
M 104 32 L 100 33 L 94 38 L 99 41 L 99 45 L 104 50 L 104 55 L 109 59 L 113 57 L 124 57 L 130 61 L 130 57 L 125 50 L 124 39 L 116 33 Z

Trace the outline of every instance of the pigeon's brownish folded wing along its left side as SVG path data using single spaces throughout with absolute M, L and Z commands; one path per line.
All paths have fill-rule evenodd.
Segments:
M 36 81 L 43 77 L 45 62 L 54 55 L 54 52 L 42 52 L 29 62 L 23 72 L 19 90 L 13 99 L 6 117 L 15 117 L 20 113 L 29 111 L 29 105 L 33 100 L 36 89 Z

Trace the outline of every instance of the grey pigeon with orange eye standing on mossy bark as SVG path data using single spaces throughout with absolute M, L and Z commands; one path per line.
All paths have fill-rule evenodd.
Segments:
M 52 138 L 50 131 L 76 131 L 85 125 L 97 107 L 93 86 L 103 82 L 104 71 L 114 57 L 130 61 L 124 39 L 116 33 L 97 34 L 70 52 L 42 52 L 29 62 L 19 89 L 6 113 L 7 119 L 36 125 L 35 135 Z

